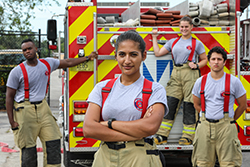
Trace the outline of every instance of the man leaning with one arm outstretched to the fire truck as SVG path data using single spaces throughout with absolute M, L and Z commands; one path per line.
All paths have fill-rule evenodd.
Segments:
M 26 61 L 11 70 L 6 84 L 6 110 L 15 143 L 21 150 L 21 166 L 37 166 L 36 140 L 39 137 L 44 166 L 61 167 L 61 132 L 45 98 L 49 76 L 57 68 L 93 60 L 97 53 L 64 60 L 37 59 L 37 47 L 31 39 L 22 41 L 21 48 Z

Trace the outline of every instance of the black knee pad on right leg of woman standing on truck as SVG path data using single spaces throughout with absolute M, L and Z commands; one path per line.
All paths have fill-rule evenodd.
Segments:
M 196 111 L 193 103 L 183 102 L 183 123 L 186 125 L 196 123 Z

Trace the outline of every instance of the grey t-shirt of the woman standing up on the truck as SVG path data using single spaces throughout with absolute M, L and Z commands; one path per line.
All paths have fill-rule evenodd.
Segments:
M 188 61 L 188 57 L 192 51 L 192 37 L 189 39 L 182 39 L 180 38 L 178 42 L 174 45 L 173 50 L 172 50 L 172 45 L 173 42 L 177 38 L 172 38 L 170 39 L 164 47 L 169 51 L 172 52 L 174 56 L 174 62 L 175 64 L 184 64 Z M 205 53 L 205 48 L 204 45 L 202 44 L 201 41 L 196 39 L 196 46 L 195 46 L 195 51 L 194 51 L 194 56 L 192 59 L 192 62 L 196 62 L 196 55 L 200 55 L 202 53 Z

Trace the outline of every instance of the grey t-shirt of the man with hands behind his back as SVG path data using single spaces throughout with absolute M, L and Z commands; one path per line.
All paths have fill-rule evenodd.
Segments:
M 219 80 L 214 80 L 211 77 L 211 73 L 207 75 L 207 81 L 205 85 L 205 117 L 208 119 L 221 119 L 224 117 L 224 97 L 223 93 L 225 92 L 225 76 Z M 201 79 L 198 78 L 194 84 L 192 94 L 200 98 L 201 90 Z M 230 77 L 230 100 L 229 100 L 229 117 L 234 117 L 234 101 L 235 99 L 246 94 L 242 83 L 238 78 L 231 75 Z M 202 112 L 200 112 L 200 116 Z

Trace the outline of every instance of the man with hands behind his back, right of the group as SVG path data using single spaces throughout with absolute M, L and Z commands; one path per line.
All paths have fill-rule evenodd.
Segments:
M 194 107 L 200 121 L 194 138 L 193 166 L 240 167 L 242 153 L 236 120 L 247 108 L 246 90 L 238 78 L 224 72 L 227 53 L 221 47 L 208 52 L 211 72 L 197 79 L 193 87 Z M 234 111 L 235 99 L 238 107 Z

